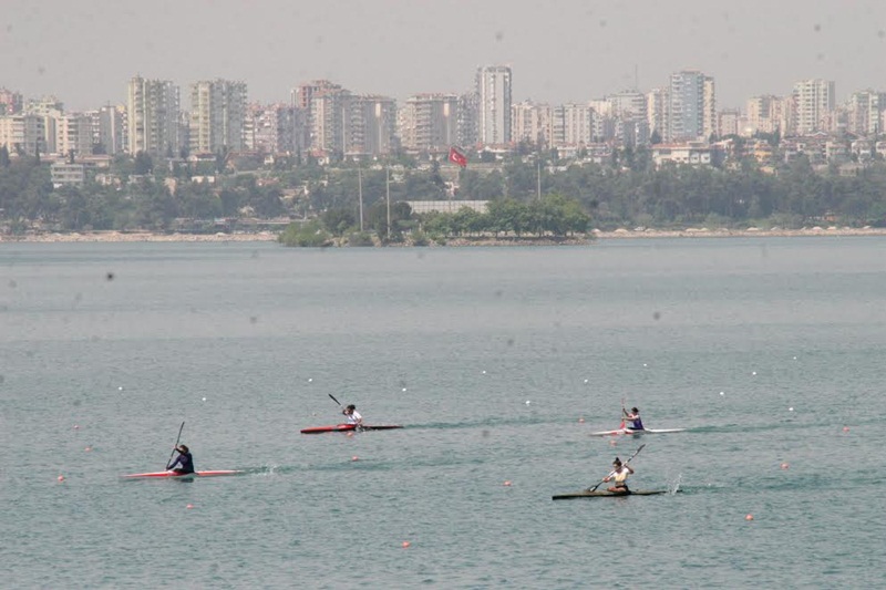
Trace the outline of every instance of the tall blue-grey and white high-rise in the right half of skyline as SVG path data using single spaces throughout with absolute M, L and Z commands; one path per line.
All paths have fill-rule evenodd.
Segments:
M 697 70 L 671 74 L 668 112 L 671 142 L 707 139 L 717 132 L 713 77 Z

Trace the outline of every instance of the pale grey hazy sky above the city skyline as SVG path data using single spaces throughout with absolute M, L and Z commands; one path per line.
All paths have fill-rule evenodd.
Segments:
M 243 80 L 287 101 L 329 79 L 399 101 L 465 92 L 478 65 L 513 69 L 514 100 L 579 102 L 717 82 L 718 107 L 789 94 L 807 77 L 837 97 L 886 91 L 886 0 L 0 0 L 0 87 L 68 110 L 125 102 L 136 74 Z

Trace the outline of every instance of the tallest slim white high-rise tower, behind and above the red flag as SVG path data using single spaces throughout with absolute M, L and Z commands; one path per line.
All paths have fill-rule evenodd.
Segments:
M 483 145 L 511 143 L 511 68 L 486 65 L 477 69 L 477 131 Z

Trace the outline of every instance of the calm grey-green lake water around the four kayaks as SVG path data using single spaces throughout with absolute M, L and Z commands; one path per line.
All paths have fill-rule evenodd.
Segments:
M 884 249 L 2 245 L 3 586 L 884 586 Z

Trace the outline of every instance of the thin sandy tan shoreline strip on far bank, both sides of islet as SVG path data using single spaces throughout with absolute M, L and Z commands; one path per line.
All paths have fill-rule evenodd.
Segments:
M 249 234 L 156 234 L 151 231 L 89 231 L 89 232 L 45 232 L 29 234 L 24 236 L 2 236 L 2 244 L 70 244 L 70 242 L 219 242 L 219 241 L 276 241 L 279 234 L 274 231 L 257 231 Z M 655 238 L 791 238 L 791 237 L 857 237 L 857 236 L 886 236 L 886 228 L 864 227 L 813 227 L 802 229 L 616 229 L 614 231 L 593 230 L 590 239 L 568 238 L 564 240 L 548 240 L 526 238 L 488 238 L 449 240 L 449 247 L 470 246 L 535 246 L 535 245 L 580 245 L 593 244 L 596 240 L 624 240 L 624 239 L 655 239 Z M 442 246 L 442 247 L 446 247 Z M 432 246 L 441 247 L 441 246 Z

